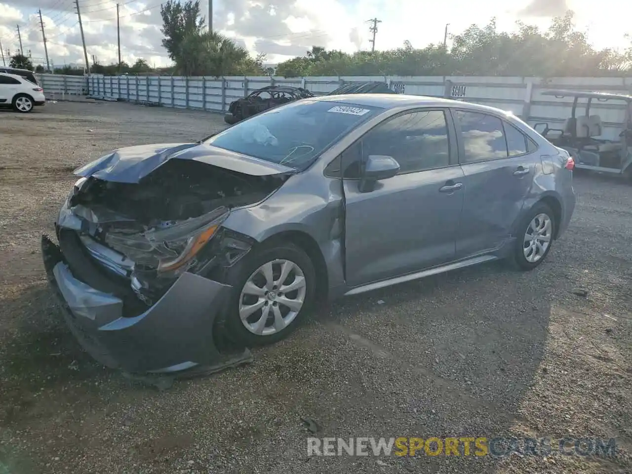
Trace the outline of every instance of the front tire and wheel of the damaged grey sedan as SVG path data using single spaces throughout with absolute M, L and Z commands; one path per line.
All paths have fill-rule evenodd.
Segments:
M 284 262 L 289 262 L 286 268 L 291 271 L 284 280 L 284 286 L 292 285 L 298 289 L 293 289 L 286 294 L 281 292 L 279 295 L 278 286 L 265 284 L 262 268 L 269 268 L 270 262 L 273 262 L 272 276 L 277 284 Z M 303 286 L 300 284 L 301 277 Z M 233 289 L 228 302 L 226 334 L 221 336 L 229 342 L 250 347 L 274 344 L 284 339 L 300 325 L 308 312 L 315 295 L 315 282 L 316 273 L 312 260 L 307 253 L 292 243 L 277 241 L 248 253 L 228 270 L 225 277 L 225 283 L 233 286 Z M 257 286 L 257 289 L 250 283 Z M 258 295 L 246 293 L 246 284 L 250 293 L 260 293 Z M 272 287 L 271 291 L 268 289 L 270 287 Z M 248 313 L 246 308 L 252 309 L 255 306 L 258 308 L 246 316 Z M 293 311 L 291 307 L 298 310 Z M 267 312 L 265 321 L 263 320 L 264 311 Z M 275 316 L 278 317 L 279 313 L 283 317 L 283 324 L 277 324 L 280 321 Z M 245 316 L 244 319 L 241 317 L 242 314 Z

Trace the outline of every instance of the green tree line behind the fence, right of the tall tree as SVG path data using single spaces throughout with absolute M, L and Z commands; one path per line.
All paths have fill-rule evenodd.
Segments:
M 629 36 L 628 36 L 629 38 Z M 325 51 L 312 47 L 306 56 L 279 64 L 276 75 L 300 76 L 612 76 L 632 71 L 632 44 L 626 51 L 594 49 L 576 30 L 573 13 L 554 18 L 542 32 L 518 22 L 518 31 L 499 32 L 495 20 L 471 25 L 451 37 L 451 47 L 410 42 L 389 51 Z

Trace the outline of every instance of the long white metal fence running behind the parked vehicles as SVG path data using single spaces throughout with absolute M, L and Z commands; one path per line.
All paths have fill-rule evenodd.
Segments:
M 49 94 L 74 94 L 85 88 L 78 76 L 39 75 Z M 611 78 L 523 78 L 467 76 L 330 76 L 305 78 L 174 77 L 174 76 L 90 76 L 92 97 L 131 102 L 150 102 L 164 107 L 226 112 L 233 100 L 267 85 L 305 87 L 314 94 L 327 94 L 347 82 L 384 81 L 401 94 L 452 97 L 513 112 L 531 125 L 547 122 L 554 127 L 568 118 L 572 99 L 542 95 L 548 88 L 599 90 L 632 94 L 632 77 Z M 581 112 L 580 112 L 581 113 Z M 614 101 L 593 102 L 591 113 L 602 118 L 604 138 L 615 138 L 624 119 L 624 105 Z M 559 127 L 559 126 L 558 126 Z

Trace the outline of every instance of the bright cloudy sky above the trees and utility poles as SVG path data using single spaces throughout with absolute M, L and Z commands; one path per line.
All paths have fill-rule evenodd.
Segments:
M 208 1 L 201 0 L 205 16 Z M 267 63 L 303 55 L 312 45 L 353 52 L 368 49 L 367 20 L 377 16 L 378 49 L 442 42 L 444 28 L 459 33 L 471 23 L 485 25 L 492 16 L 503 30 L 516 20 L 546 28 L 566 9 L 597 47 L 623 48 L 632 33 L 632 2 L 624 0 L 213 0 L 213 27 L 234 37 L 251 52 L 267 54 Z M 116 1 L 79 0 L 88 50 L 101 64 L 116 62 Z M 154 66 L 170 63 L 161 46 L 160 0 L 118 0 L 121 8 L 123 60 L 145 58 Z M 44 47 L 38 9 L 42 10 L 49 58 L 55 66 L 82 63 L 81 35 L 74 0 L 0 0 L 0 42 L 6 55 L 20 47 L 43 63 Z

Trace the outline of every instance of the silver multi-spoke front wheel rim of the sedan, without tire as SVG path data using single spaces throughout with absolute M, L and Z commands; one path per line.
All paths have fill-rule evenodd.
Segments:
M 243 286 L 239 315 L 244 327 L 257 336 L 283 331 L 300 312 L 307 284 L 303 270 L 278 258 L 255 270 Z

